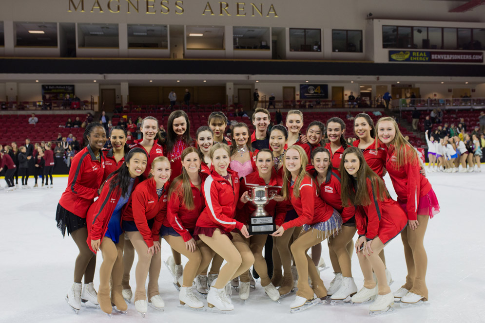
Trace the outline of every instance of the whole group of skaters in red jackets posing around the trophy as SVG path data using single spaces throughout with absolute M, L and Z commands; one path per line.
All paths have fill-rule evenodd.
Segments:
M 375 314 L 392 309 L 394 302 L 412 306 L 428 300 L 423 240 L 439 204 L 417 151 L 396 122 L 384 117 L 374 125 L 368 114 L 358 114 L 353 146 L 346 144 L 345 123 L 336 117 L 326 125 L 312 121 L 304 132 L 302 112 L 291 110 L 286 127 L 269 130 L 270 113 L 257 108 L 252 122 L 254 133 L 237 123 L 229 140 L 226 116 L 213 112 L 192 139 L 187 114 L 176 110 L 163 146 L 157 141 L 158 121 L 149 116 L 141 124 L 143 139 L 131 147 L 127 130 L 113 127 L 109 151 L 101 150 L 107 140 L 103 126 L 86 126 L 88 144 L 72 161 L 56 215 L 62 234 L 67 231 L 79 249 L 66 297 L 76 313 L 82 303 L 108 315 L 124 312 L 133 296 L 142 316 L 148 305 L 163 310 L 162 238 L 172 248 L 167 266 L 180 306 L 189 309 L 205 310 L 207 301 L 207 310 L 233 311 L 231 285 L 248 299 L 252 266 L 272 301 L 296 290 L 291 312 L 324 300 L 372 301 L 369 311 Z M 397 201 L 389 197 L 386 172 Z M 251 188 L 261 185 L 272 196 L 265 206 L 276 225 L 271 236 L 248 232 L 255 210 L 248 202 Z M 407 277 L 392 293 L 383 250 L 398 234 Z M 335 273 L 328 288 L 318 269 L 324 240 Z M 96 291 L 97 251 L 102 264 Z M 364 276 L 360 290 L 351 272 L 354 252 Z M 185 267 L 181 255 L 188 259 Z

